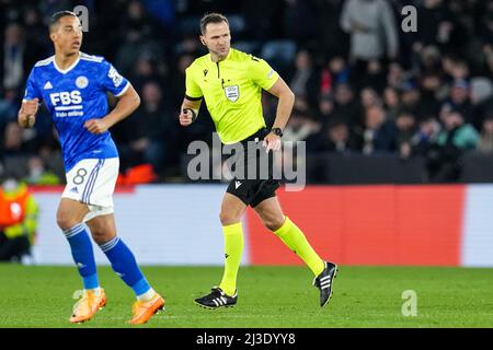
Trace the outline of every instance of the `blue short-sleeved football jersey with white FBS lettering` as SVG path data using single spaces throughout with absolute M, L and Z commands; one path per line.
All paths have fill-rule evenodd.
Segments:
M 110 131 L 93 135 L 84 128 L 84 122 L 107 115 L 106 92 L 121 96 L 129 86 L 103 57 L 83 52 L 65 70 L 57 67 L 55 56 L 34 66 L 24 100 L 45 102 L 58 131 L 66 172 L 84 159 L 118 156 Z

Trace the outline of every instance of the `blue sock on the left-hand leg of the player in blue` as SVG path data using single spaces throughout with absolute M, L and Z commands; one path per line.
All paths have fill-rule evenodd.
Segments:
M 85 225 L 79 223 L 69 230 L 64 231 L 64 234 L 70 244 L 73 261 L 82 277 L 84 289 L 99 288 L 100 282 L 98 281 L 94 253 Z

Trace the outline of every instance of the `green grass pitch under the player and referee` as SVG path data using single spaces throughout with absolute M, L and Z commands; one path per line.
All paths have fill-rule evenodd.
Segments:
M 238 305 L 215 311 L 193 299 L 218 283 L 222 268 L 142 271 L 167 301 L 165 312 L 144 327 L 493 327 L 493 269 L 341 266 L 333 298 L 321 308 L 307 268 L 242 267 Z M 71 325 L 72 294 L 81 285 L 76 268 L 0 265 L 0 327 L 130 327 L 131 290 L 110 267 L 99 273 L 106 307 Z M 402 315 L 405 290 L 416 292 L 416 316 Z

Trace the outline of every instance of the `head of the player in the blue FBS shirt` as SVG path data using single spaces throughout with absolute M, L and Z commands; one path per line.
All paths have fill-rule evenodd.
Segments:
M 55 51 L 65 56 L 79 54 L 82 45 L 82 25 L 78 18 L 64 16 L 50 35 L 55 44 Z

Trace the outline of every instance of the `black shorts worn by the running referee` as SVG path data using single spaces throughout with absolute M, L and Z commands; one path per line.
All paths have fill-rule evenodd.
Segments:
M 243 176 L 233 176 L 226 191 L 240 198 L 252 208 L 265 199 L 275 197 L 276 190 L 280 186 L 279 180 L 274 179 L 273 176 L 272 152 L 267 155 L 265 148 L 261 148 L 262 141 L 268 132 L 265 128 L 261 129 L 234 145 L 241 144 L 244 152 L 243 160 L 237 154 L 231 158 L 236 164 L 234 170 L 242 173 Z

